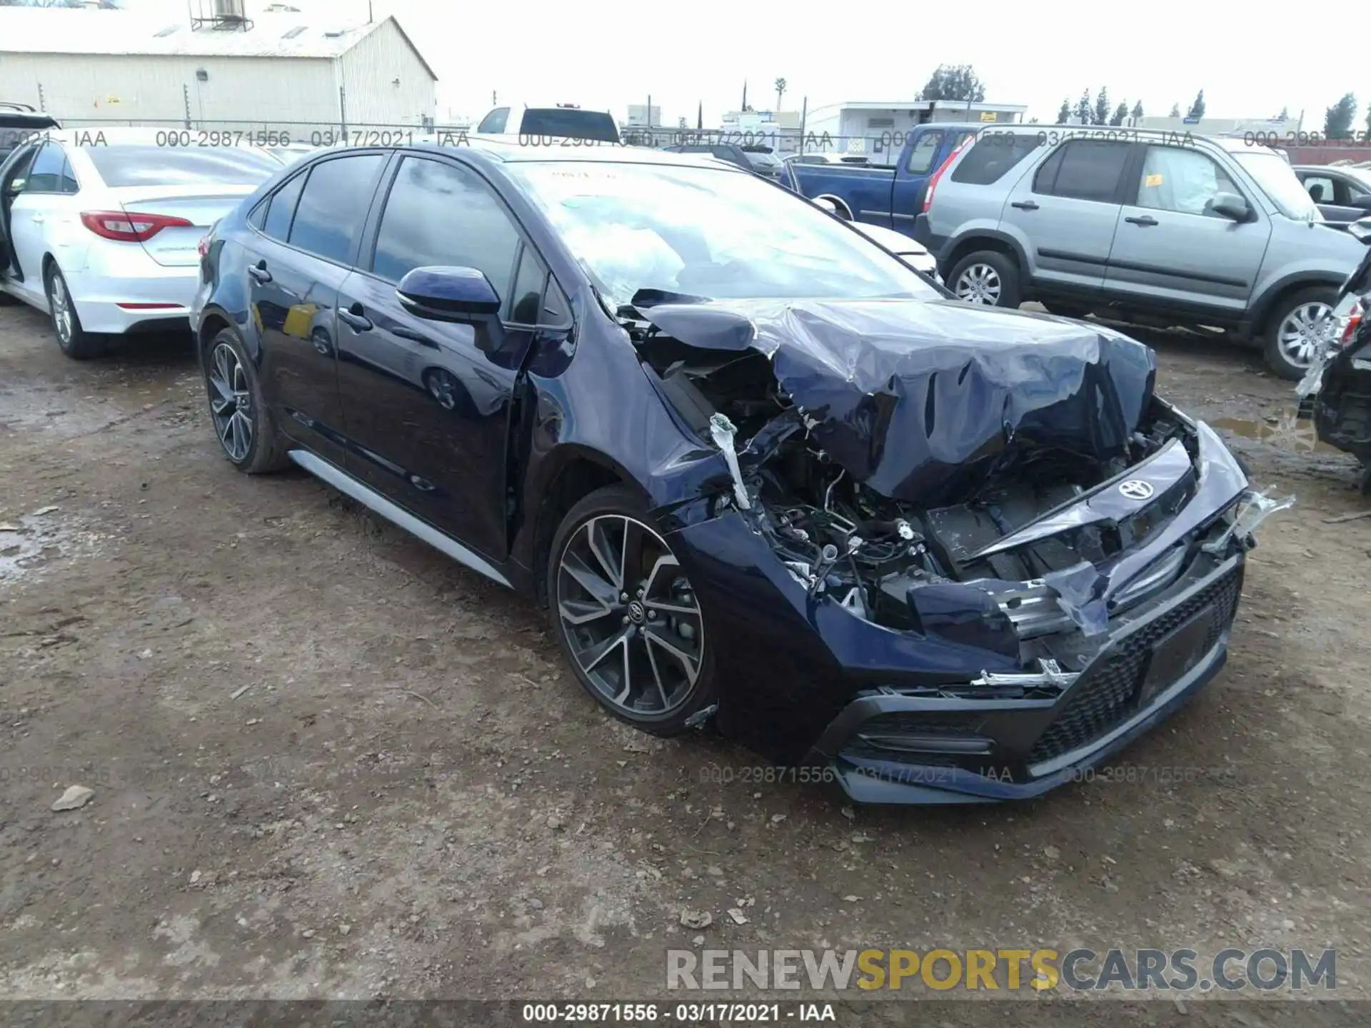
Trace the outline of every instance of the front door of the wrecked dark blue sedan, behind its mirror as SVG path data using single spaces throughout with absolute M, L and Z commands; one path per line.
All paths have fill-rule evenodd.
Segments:
M 339 296 L 350 470 L 503 561 L 511 396 L 557 286 L 495 191 L 465 164 L 406 155 L 376 221 L 373 254 Z M 478 269 L 502 311 L 454 322 L 414 317 L 395 286 L 432 266 Z

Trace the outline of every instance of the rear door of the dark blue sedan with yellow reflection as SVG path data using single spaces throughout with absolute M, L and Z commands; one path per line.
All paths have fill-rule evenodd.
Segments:
M 344 154 L 288 178 L 250 214 L 248 296 L 262 339 L 262 381 L 281 430 L 347 463 L 335 345 L 337 293 L 387 154 Z

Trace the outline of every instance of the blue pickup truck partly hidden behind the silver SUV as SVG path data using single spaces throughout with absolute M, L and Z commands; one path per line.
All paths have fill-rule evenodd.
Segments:
M 786 163 L 788 185 L 810 200 L 832 200 L 849 221 L 914 234 L 928 180 L 967 140 L 994 125 L 930 122 L 905 133 L 894 164 Z M 898 138 L 895 140 L 898 141 Z

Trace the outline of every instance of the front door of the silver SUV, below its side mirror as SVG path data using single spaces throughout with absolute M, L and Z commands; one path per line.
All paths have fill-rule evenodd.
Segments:
M 1252 221 L 1215 214 L 1219 193 L 1242 196 Z M 1265 211 L 1209 154 L 1149 143 L 1119 211 L 1105 289 L 1241 315 L 1270 238 Z

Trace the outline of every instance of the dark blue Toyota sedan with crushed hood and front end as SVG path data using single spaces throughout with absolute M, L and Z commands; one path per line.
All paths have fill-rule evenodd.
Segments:
M 1282 506 L 1142 344 L 965 306 L 688 156 L 330 151 L 202 255 L 234 466 L 531 593 L 616 717 L 858 800 L 1032 796 L 1146 731 L 1223 665 Z

